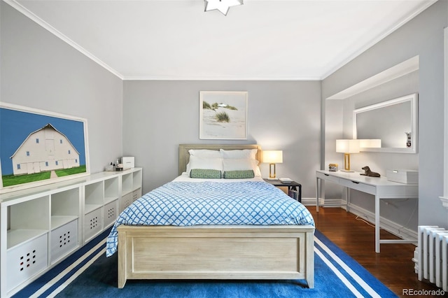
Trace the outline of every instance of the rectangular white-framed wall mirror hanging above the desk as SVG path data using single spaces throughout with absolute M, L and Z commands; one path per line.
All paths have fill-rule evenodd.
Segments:
M 381 139 L 370 152 L 417 152 L 417 94 L 409 94 L 353 111 L 353 139 Z

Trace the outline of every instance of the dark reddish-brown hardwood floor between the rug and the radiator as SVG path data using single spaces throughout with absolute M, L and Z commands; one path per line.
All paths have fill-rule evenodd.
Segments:
M 399 297 L 403 289 L 438 290 L 431 283 L 421 282 L 414 273 L 415 247 L 412 244 L 381 244 L 381 253 L 374 252 L 374 227 L 356 219 L 356 215 L 342 208 L 307 206 L 314 216 L 316 229 L 353 257 L 359 264 L 379 279 Z M 381 239 L 396 239 L 381 229 Z M 448 297 L 448 295 L 445 295 Z M 414 296 L 416 297 L 416 296 Z

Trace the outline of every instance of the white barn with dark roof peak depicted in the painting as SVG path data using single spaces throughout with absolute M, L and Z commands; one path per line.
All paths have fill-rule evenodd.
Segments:
M 79 166 L 78 150 L 50 123 L 31 132 L 10 158 L 14 175 Z

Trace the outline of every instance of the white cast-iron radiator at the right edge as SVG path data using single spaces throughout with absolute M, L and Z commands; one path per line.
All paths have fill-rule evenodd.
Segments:
M 437 226 L 419 226 L 419 281 L 426 279 L 448 292 L 448 230 Z

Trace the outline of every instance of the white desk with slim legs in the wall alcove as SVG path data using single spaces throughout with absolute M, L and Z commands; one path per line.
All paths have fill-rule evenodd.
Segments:
M 350 190 L 359 190 L 375 196 L 375 252 L 379 253 L 380 243 L 416 243 L 414 240 L 379 239 L 379 200 L 380 199 L 418 199 L 419 185 L 388 181 L 385 177 L 367 177 L 359 172 L 316 171 L 316 211 L 319 211 L 319 198 L 325 199 L 325 180 L 346 187 L 346 204 L 349 211 Z

